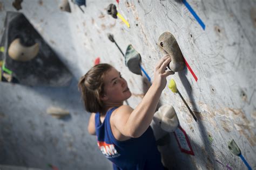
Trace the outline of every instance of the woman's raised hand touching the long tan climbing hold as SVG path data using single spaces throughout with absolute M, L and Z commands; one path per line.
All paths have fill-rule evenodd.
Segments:
M 166 77 L 174 74 L 172 71 L 166 71 L 167 65 L 171 62 L 171 58 L 169 55 L 164 56 L 159 60 L 157 66 L 154 69 L 154 80 L 153 84 L 155 84 L 161 90 L 164 90 L 166 86 Z

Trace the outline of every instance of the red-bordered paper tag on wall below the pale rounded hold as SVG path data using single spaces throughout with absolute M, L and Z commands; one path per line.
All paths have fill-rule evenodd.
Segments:
M 194 155 L 194 152 L 190 144 L 190 140 L 188 139 L 185 130 L 183 130 L 179 125 L 178 128 L 173 133 L 176 137 L 181 152 Z

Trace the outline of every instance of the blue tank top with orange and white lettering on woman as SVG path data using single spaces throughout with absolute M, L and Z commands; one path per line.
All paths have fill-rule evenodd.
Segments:
M 114 138 L 110 126 L 110 116 L 115 109 L 107 111 L 103 123 L 100 122 L 100 114 L 95 115 L 98 146 L 105 157 L 113 163 L 113 169 L 164 169 L 150 126 L 139 138 L 125 141 Z

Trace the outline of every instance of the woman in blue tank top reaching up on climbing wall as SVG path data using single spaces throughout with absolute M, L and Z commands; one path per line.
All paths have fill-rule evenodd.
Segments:
M 171 58 L 160 59 L 154 80 L 135 109 L 123 102 L 131 96 L 127 82 L 114 67 L 103 63 L 92 67 L 78 83 L 85 109 L 91 112 L 88 131 L 97 135 L 100 151 L 113 169 L 165 169 L 150 123 L 156 111 Z

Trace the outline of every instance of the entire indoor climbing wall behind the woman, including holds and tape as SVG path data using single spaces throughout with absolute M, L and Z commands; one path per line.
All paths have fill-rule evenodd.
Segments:
M 135 108 L 169 55 L 151 123 L 163 164 L 256 169 L 256 1 L 2 0 L 0 37 L 0 165 L 112 169 L 79 77 L 110 63 Z

